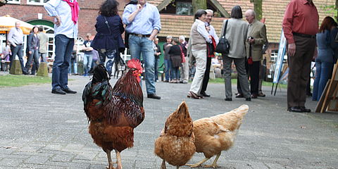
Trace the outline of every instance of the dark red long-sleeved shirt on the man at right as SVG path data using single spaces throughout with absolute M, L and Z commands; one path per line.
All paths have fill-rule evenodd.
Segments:
M 284 36 L 289 44 L 294 43 L 292 32 L 316 35 L 318 33 L 319 15 L 313 2 L 292 0 L 285 10 L 283 19 Z

